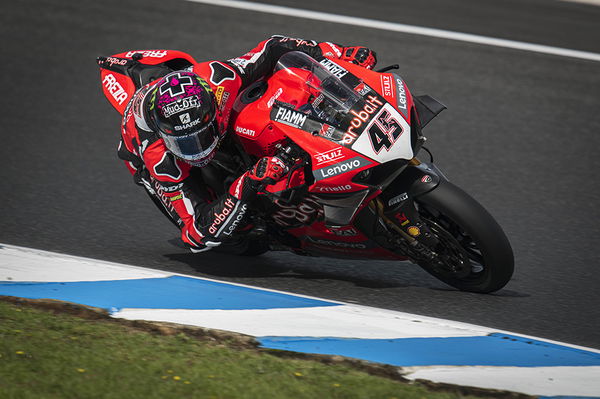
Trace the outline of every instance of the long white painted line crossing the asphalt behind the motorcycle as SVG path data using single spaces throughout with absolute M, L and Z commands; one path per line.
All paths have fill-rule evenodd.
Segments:
M 442 29 L 425 28 L 422 26 L 399 24 L 395 22 L 380 21 L 376 19 L 351 17 L 320 11 L 303 10 L 299 8 L 276 6 L 271 4 L 254 3 L 238 0 L 187 0 L 194 3 L 209 4 L 220 7 L 230 7 L 242 10 L 264 12 L 288 17 L 312 19 L 327 23 L 361 26 L 371 29 L 381 29 L 392 32 L 409 33 L 413 35 L 429 36 L 440 39 L 458 40 L 468 43 L 483 44 L 487 46 L 504 47 L 515 50 L 531 51 L 535 53 L 558 55 L 561 57 L 579 58 L 590 61 L 600 61 L 600 54 L 587 51 L 572 50 L 560 47 L 545 46 L 542 44 L 518 42 L 514 40 L 498 39 L 494 37 L 473 35 L 470 33 L 453 32 Z

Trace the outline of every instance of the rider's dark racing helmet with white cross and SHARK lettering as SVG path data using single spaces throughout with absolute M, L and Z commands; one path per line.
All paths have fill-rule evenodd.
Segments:
M 177 158 L 202 167 L 221 139 L 208 83 L 192 72 L 175 71 L 156 83 L 148 102 L 150 121 Z

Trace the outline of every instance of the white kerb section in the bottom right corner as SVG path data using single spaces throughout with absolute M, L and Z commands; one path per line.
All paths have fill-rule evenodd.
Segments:
M 404 367 L 404 377 L 529 395 L 586 396 L 600 394 L 600 367 Z

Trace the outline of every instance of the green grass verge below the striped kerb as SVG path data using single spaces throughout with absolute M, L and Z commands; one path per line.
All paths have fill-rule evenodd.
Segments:
M 0 398 L 456 398 L 346 365 L 0 301 Z

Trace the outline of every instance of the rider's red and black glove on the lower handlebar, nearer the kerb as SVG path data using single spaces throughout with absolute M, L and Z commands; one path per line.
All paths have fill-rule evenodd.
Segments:
M 229 194 L 242 201 L 250 201 L 256 193 L 269 184 L 277 183 L 288 173 L 289 168 L 279 157 L 263 157 L 246 173 L 238 177 Z

